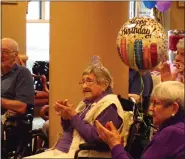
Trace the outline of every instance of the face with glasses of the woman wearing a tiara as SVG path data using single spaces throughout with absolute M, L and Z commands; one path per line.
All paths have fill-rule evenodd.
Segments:
M 88 75 L 84 75 L 82 77 L 80 85 L 82 86 L 85 99 L 89 101 L 95 100 L 105 90 L 103 86 L 97 83 L 96 76 L 92 73 Z

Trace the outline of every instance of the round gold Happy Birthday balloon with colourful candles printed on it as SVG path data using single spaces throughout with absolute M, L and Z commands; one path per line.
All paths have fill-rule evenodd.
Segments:
M 152 18 L 135 17 L 126 22 L 117 36 L 117 51 L 130 68 L 146 71 L 156 67 L 167 51 L 166 34 Z

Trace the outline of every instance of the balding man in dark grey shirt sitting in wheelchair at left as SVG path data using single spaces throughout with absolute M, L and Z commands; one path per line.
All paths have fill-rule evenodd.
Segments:
M 1 46 L 1 141 L 3 157 L 8 158 L 32 129 L 34 88 L 30 71 L 16 63 L 18 44 L 4 38 Z

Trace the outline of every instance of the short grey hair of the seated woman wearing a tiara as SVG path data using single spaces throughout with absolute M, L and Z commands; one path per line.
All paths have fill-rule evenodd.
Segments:
M 83 71 L 82 75 L 84 76 L 91 73 L 95 75 L 96 80 L 100 85 L 108 82 L 108 86 L 113 87 L 112 76 L 107 68 L 90 65 Z

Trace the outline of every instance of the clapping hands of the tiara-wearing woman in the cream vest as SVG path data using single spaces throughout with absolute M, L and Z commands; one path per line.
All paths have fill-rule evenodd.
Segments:
M 68 103 L 68 99 L 57 101 L 53 104 L 56 113 L 64 120 L 71 120 L 77 114 L 74 105 Z

